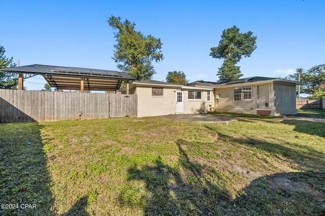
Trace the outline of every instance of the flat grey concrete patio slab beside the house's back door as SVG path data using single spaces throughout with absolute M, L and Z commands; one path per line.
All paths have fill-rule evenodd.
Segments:
M 199 122 L 220 122 L 220 121 L 232 121 L 233 117 L 224 117 L 208 114 L 174 114 L 174 115 L 162 115 L 161 117 L 169 119 L 178 119 L 183 121 L 199 121 Z

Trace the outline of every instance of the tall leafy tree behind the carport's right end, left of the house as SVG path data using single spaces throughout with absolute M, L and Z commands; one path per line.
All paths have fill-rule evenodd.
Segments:
M 152 61 L 159 62 L 164 58 L 160 38 L 136 31 L 136 24 L 127 19 L 121 22 L 120 17 L 111 16 L 107 22 L 115 30 L 117 45 L 114 45 L 112 58 L 117 68 L 134 76 L 136 80 L 150 79 L 156 73 Z

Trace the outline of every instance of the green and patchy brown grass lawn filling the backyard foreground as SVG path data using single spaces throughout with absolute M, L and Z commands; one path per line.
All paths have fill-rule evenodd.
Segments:
M 0 215 L 323 215 L 325 124 L 0 124 Z M 31 142 L 27 145 L 26 142 Z

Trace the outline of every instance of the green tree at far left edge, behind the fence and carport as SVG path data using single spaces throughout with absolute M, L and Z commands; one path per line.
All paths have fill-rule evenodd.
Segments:
M 0 70 L 2 68 L 16 67 L 13 57 L 8 59 L 5 56 L 6 50 L 0 45 Z M 4 73 L 0 71 L 0 89 L 17 89 L 18 77 L 14 73 Z

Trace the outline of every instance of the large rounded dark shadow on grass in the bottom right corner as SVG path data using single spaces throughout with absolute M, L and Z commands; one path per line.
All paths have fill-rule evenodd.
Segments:
M 236 213 L 324 215 L 325 172 L 285 172 L 258 178 L 236 199 Z

